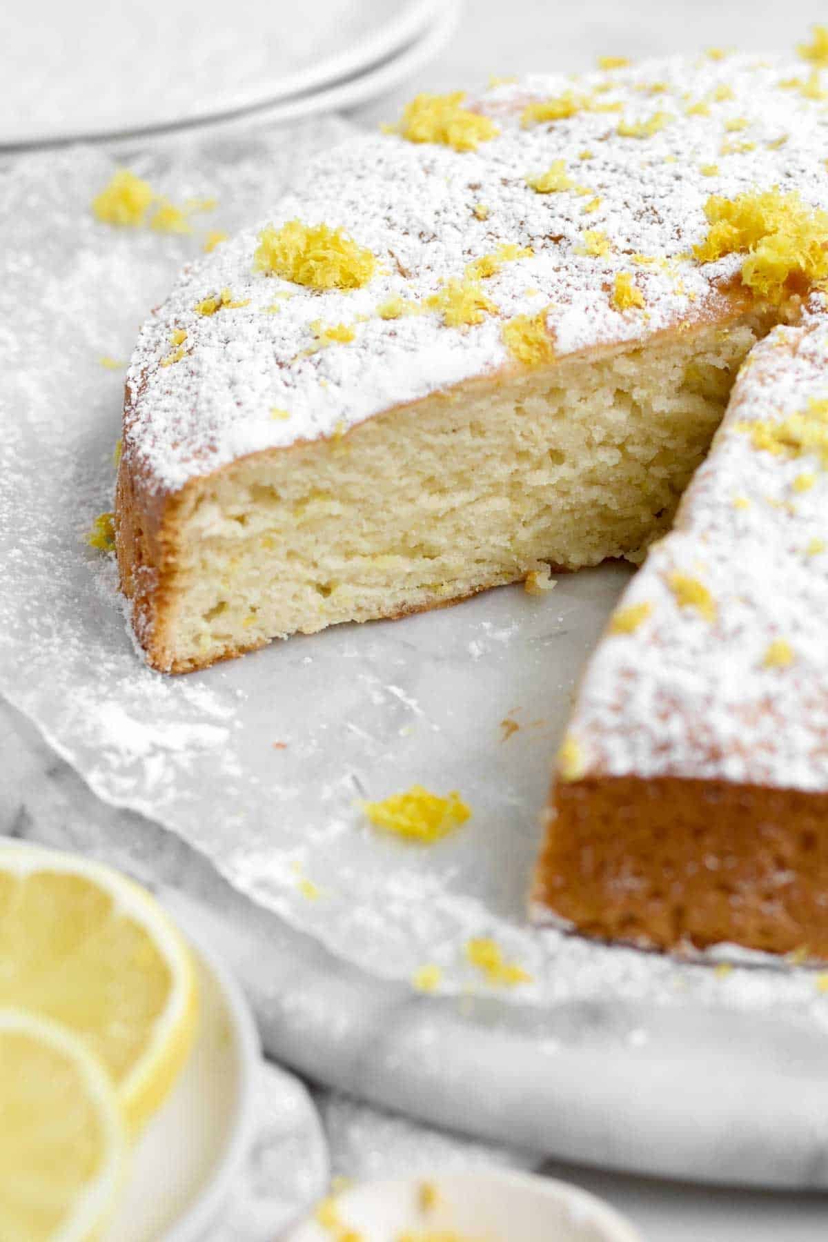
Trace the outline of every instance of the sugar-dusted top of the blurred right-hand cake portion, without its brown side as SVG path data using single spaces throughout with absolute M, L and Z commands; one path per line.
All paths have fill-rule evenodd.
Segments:
M 828 791 L 828 320 L 754 347 L 673 532 L 598 645 L 564 743 L 585 775 Z

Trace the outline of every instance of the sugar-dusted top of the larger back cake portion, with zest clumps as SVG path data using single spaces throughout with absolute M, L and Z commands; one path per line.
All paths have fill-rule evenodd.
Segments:
M 823 91 L 818 41 L 807 51 L 417 97 L 397 132 L 326 153 L 144 324 L 124 443 L 144 486 L 716 317 L 745 256 L 716 245 L 711 196 L 828 206 L 828 73 Z

